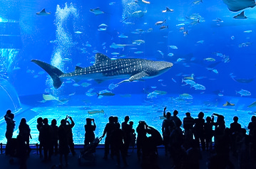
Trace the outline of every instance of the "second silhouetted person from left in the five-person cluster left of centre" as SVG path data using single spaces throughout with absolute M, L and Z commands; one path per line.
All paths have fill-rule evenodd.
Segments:
M 43 145 L 43 162 L 51 161 L 53 131 L 48 125 L 48 119 L 43 119 L 43 126 L 41 127 L 41 144 Z

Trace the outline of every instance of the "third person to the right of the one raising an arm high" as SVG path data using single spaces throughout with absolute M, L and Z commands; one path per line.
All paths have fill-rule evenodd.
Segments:
M 195 119 L 194 136 L 195 136 L 195 142 L 197 143 L 198 148 L 200 148 L 200 143 L 201 143 L 202 149 L 203 151 L 205 151 L 205 131 L 204 131 L 205 119 L 203 119 L 203 116 L 205 116 L 205 114 L 201 111 L 198 114 L 198 119 Z

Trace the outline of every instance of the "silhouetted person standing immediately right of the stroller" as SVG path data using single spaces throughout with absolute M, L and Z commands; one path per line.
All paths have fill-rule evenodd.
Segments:
M 111 145 L 111 134 L 113 133 L 114 129 L 115 129 L 114 117 L 109 116 L 108 117 L 108 123 L 106 124 L 105 129 L 103 131 L 103 135 L 101 136 L 103 138 L 106 135 L 105 151 L 104 151 L 104 156 L 103 156 L 103 159 L 105 159 L 105 160 L 108 159 L 109 148 L 110 148 L 110 145 Z

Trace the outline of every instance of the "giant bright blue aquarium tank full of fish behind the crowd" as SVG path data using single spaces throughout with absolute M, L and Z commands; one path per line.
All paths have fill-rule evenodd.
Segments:
M 161 131 L 163 109 L 203 111 L 247 129 L 256 114 L 255 1 L 0 1 L 0 143 L 14 112 L 39 143 L 36 120 L 71 116 L 83 144 L 109 116 Z M 103 141 L 101 141 L 103 143 Z

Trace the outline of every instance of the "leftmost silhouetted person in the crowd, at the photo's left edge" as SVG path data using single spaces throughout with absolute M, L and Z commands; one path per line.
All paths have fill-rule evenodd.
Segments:
M 11 113 L 11 110 L 7 110 L 6 114 L 4 115 L 4 120 L 6 121 L 6 155 L 8 155 L 9 152 L 9 144 L 12 138 L 12 135 L 14 133 L 14 127 L 15 127 L 15 121 L 14 121 L 14 114 Z

